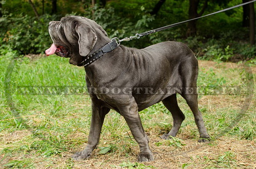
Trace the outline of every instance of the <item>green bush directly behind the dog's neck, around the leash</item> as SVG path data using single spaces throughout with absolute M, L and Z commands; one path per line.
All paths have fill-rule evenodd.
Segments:
M 95 20 L 108 33 L 110 38 L 118 37 L 120 39 L 151 30 L 151 25 L 155 19 L 154 16 L 149 15 L 144 10 L 143 6 L 136 13 L 136 21 L 128 17 L 119 16 L 111 6 L 100 8 L 98 5 L 95 5 L 94 8 L 86 10 L 81 15 Z M 143 48 L 151 45 L 154 40 L 147 36 L 139 40 L 122 42 L 122 44 L 130 47 Z

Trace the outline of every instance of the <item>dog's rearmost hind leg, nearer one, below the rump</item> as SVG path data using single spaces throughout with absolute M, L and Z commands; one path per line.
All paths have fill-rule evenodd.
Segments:
M 199 130 L 200 138 L 201 138 L 201 139 L 199 139 L 199 142 L 207 142 L 209 140 L 210 136 L 208 135 L 208 133 L 206 131 L 202 113 L 198 109 L 198 94 L 181 94 L 181 95 L 186 100 L 189 108 L 191 109 L 191 111 L 194 114 L 195 122 L 196 122 L 197 128 Z

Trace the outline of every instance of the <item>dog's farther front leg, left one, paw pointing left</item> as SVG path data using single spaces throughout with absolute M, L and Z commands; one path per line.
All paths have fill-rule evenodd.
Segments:
M 100 131 L 104 122 L 104 118 L 109 111 L 109 108 L 103 107 L 101 101 L 92 99 L 92 120 L 88 143 L 83 151 L 77 152 L 72 156 L 73 159 L 82 160 L 89 158 L 91 156 L 92 151 L 96 148 L 97 144 L 99 143 Z

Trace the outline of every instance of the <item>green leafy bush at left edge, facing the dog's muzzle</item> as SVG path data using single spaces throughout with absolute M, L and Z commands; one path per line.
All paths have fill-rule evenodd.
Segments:
M 19 54 L 43 53 L 52 43 L 48 33 L 48 23 L 56 15 L 42 15 L 39 19 L 28 15 L 5 15 L 0 19 L 1 44 L 6 44 Z

